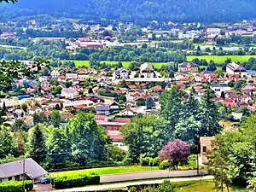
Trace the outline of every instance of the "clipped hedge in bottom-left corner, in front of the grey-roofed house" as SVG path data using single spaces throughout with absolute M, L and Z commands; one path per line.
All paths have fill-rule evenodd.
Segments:
M 26 191 L 31 191 L 33 189 L 32 181 L 25 181 Z M 14 181 L 14 182 L 5 182 L 0 183 L 1 192 L 24 192 L 23 182 Z

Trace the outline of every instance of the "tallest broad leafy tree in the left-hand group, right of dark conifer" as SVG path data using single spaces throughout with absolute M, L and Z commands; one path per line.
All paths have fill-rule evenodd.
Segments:
M 67 138 L 73 160 L 79 164 L 106 158 L 106 131 L 97 125 L 94 114 L 77 113 L 67 124 Z

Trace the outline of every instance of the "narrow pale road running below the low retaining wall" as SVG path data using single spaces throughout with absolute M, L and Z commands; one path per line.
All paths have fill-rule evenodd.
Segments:
M 126 188 L 129 185 L 140 185 L 140 184 L 153 184 L 153 183 L 162 183 L 165 180 L 170 180 L 171 182 L 185 182 L 185 181 L 195 181 L 195 180 L 204 180 L 204 179 L 212 179 L 212 176 L 201 176 L 201 177 L 179 177 L 179 178 L 170 178 L 170 179 L 157 179 L 151 181 L 137 181 L 137 182 L 125 182 L 125 183 L 109 183 L 102 185 L 94 185 L 94 186 L 86 186 L 81 188 L 73 188 L 73 189 L 61 189 L 55 190 L 55 192 L 72 192 L 72 191 L 95 191 L 95 190 L 103 190 L 103 189 L 119 189 Z

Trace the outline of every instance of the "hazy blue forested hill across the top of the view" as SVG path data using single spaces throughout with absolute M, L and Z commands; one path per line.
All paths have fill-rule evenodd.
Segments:
M 255 0 L 19 0 L 0 5 L 0 20 L 49 14 L 145 22 L 233 21 L 256 18 Z

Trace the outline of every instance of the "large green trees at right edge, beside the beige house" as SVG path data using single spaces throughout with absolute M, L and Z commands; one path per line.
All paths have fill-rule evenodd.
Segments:
M 255 167 L 256 116 L 247 118 L 237 131 L 224 131 L 212 143 L 209 170 L 216 186 L 223 183 L 246 184 Z M 220 187 L 222 188 L 222 187 Z

